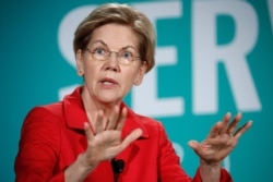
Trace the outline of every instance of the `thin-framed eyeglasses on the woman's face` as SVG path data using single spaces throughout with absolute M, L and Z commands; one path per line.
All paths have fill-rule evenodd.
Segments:
M 90 48 L 86 48 L 86 50 L 92 54 L 92 58 L 98 61 L 105 61 L 109 59 L 111 53 L 115 53 L 118 62 L 123 65 L 131 64 L 134 60 L 141 60 L 141 57 L 134 57 L 132 52 L 128 50 L 120 50 L 118 52 L 110 51 L 104 48 L 97 48 L 94 50 L 91 50 Z

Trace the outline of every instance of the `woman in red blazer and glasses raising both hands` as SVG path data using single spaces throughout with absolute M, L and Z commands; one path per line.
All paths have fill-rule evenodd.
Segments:
M 74 52 L 84 84 L 27 114 L 16 181 L 232 181 L 221 161 L 251 122 L 235 131 L 241 116 L 229 123 L 227 113 L 204 142 L 189 142 L 200 157 L 191 179 L 163 125 L 122 102 L 154 65 L 155 33 L 143 13 L 124 4 L 98 7 L 75 31 Z

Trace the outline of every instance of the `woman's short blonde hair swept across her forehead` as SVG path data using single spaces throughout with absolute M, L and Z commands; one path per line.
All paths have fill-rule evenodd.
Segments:
M 94 29 L 108 23 L 119 23 L 132 28 L 139 38 L 140 57 L 142 61 L 146 61 L 149 72 L 155 63 L 155 31 L 145 14 L 127 4 L 107 3 L 91 12 L 74 33 L 74 53 L 86 48 Z

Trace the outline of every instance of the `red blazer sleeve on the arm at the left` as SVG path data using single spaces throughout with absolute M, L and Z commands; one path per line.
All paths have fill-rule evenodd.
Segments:
M 52 113 L 34 108 L 25 118 L 15 159 L 15 181 L 64 181 L 63 171 L 55 174 L 60 150 L 60 128 Z

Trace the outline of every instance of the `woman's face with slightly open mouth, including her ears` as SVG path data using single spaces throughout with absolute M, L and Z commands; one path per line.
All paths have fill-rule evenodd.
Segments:
M 146 71 L 146 64 L 134 59 L 130 64 L 121 64 L 117 53 L 139 57 L 139 40 L 129 26 L 106 24 L 96 28 L 87 45 L 88 50 L 76 52 L 78 72 L 84 75 L 84 89 L 87 98 L 100 104 L 118 104 L 131 89 L 139 85 Z M 98 58 L 107 51 L 115 51 L 102 61 Z M 86 97 L 85 97 L 86 98 Z

